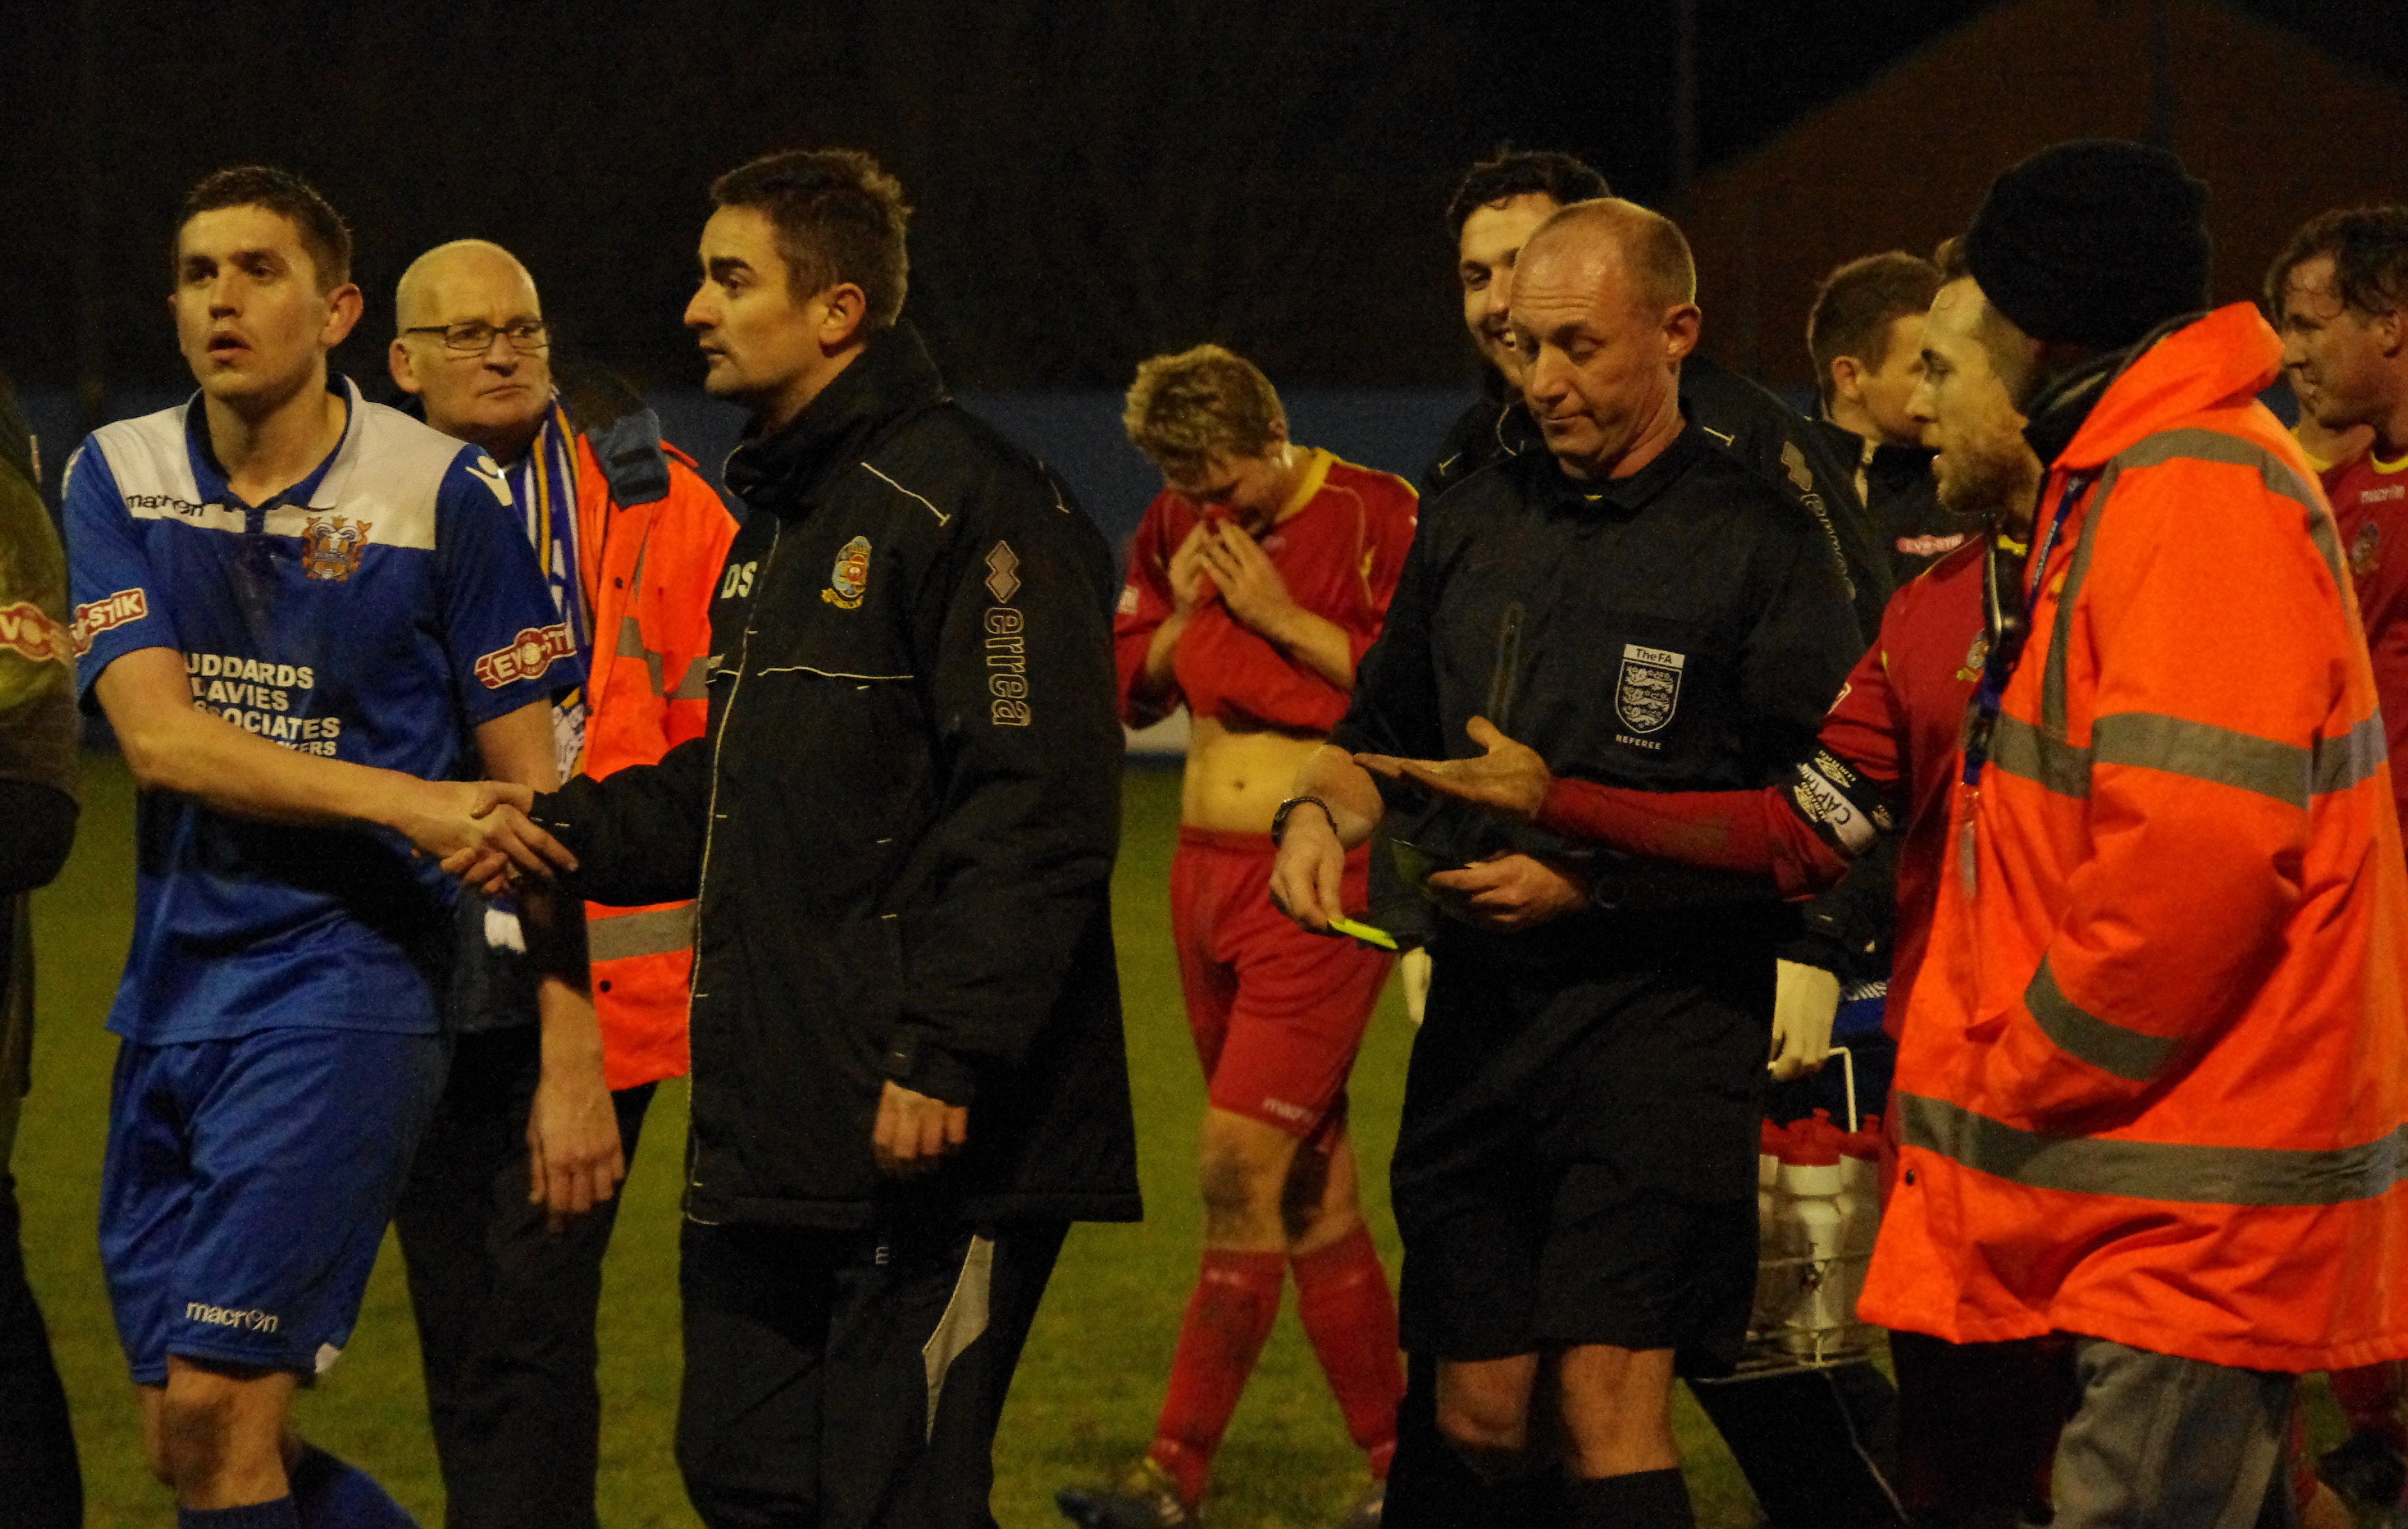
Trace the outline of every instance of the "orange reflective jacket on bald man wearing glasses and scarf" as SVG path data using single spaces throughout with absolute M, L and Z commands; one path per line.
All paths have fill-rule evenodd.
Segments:
M 595 660 L 585 681 L 585 758 L 602 778 L 657 763 L 703 734 L 710 592 L 737 523 L 694 470 L 662 443 L 669 491 L 619 503 L 592 441 L 578 436 L 578 544 Z M 585 905 L 602 1076 L 633 1088 L 686 1072 L 686 980 L 694 970 L 694 903 Z

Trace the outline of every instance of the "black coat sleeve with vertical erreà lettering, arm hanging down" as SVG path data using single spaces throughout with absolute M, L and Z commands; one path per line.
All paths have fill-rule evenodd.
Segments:
M 1120 848 L 1112 578 L 1103 535 L 1033 465 L 1004 465 L 920 597 L 944 799 L 915 850 L 937 896 L 903 917 L 884 1069 L 966 1105 L 1052 1019 L 1108 917 Z

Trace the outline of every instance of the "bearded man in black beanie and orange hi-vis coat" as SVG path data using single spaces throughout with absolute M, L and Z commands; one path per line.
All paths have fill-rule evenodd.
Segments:
M 1943 494 L 2011 486 L 2028 554 L 1991 554 L 1859 1315 L 2068 1336 L 2056 1529 L 2239 1529 L 2297 1372 L 2408 1353 L 2382 718 L 2331 515 L 2256 402 L 2280 342 L 2201 313 L 2203 200 L 2124 142 L 1999 176 L 1914 405 Z

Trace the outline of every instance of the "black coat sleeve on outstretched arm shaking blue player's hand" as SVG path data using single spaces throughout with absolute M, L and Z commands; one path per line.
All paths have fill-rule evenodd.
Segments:
M 686 739 L 655 766 L 628 766 L 609 780 L 578 775 L 537 795 L 535 826 L 578 857 L 566 879 L 604 908 L 641 908 L 691 898 L 703 884 L 703 831 L 710 823 L 713 737 Z

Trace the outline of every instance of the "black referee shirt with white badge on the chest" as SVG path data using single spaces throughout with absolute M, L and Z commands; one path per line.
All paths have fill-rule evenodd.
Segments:
M 1558 775 L 1753 790 L 1813 751 L 1857 655 L 1816 530 L 1702 431 L 1625 479 L 1522 453 L 1423 506 L 1332 742 L 1462 758 L 1486 715 Z M 1392 826 L 1445 860 L 1570 848 L 1416 797 Z

